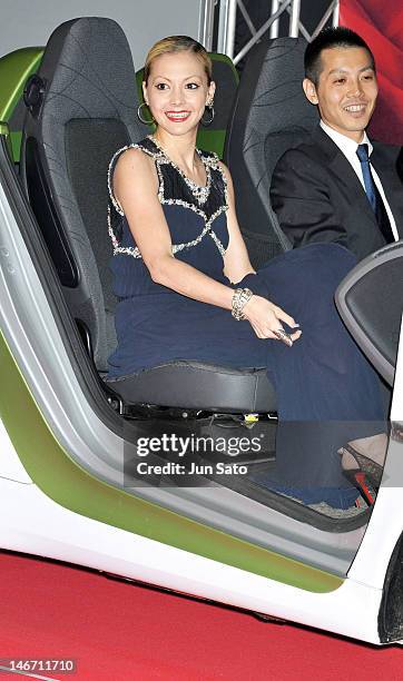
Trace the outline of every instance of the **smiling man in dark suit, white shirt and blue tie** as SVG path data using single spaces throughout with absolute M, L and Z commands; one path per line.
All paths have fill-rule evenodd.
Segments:
M 403 238 L 400 149 L 365 132 L 377 97 L 374 57 L 353 31 L 325 29 L 306 49 L 305 75 L 321 124 L 277 162 L 273 208 L 294 248 L 334 241 L 361 259 Z

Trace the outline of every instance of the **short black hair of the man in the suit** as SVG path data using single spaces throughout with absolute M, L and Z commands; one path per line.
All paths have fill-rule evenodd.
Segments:
M 324 29 L 307 46 L 304 57 L 305 77 L 317 86 L 323 68 L 321 61 L 322 50 L 354 47 L 364 48 L 368 52 L 371 66 L 375 70 L 375 59 L 365 40 L 351 29 L 337 26 Z

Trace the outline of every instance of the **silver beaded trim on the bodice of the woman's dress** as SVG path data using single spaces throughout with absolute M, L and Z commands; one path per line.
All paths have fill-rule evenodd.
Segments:
M 209 154 L 206 154 L 205 151 L 200 151 L 199 149 L 197 149 L 197 154 L 199 155 L 200 160 L 206 170 L 206 185 L 202 187 L 197 185 L 196 182 L 194 182 L 190 178 L 186 177 L 186 175 L 180 170 L 180 168 L 178 168 L 178 166 L 176 166 L 174 161 L 171 161 L 168 158 L 164 149 L 158 145 L 158 142 L 153 138 L 153 136 L 149 136 L 148 138 L 146 138 L 139 144 L 128 145 L 126 147 L 122 147 L 121 149 L 118 149 L 118 151 L 116 151 L 116 154 L 112 156 L 111 161 L 109 164 L 108 191 L 109 191 L 110 203 L 108 204 L 108 233 L 112 241 L 114 255 L 124 254 L 124 255 L 130 255 L 134 258 L 141 258 L 141 254 L 137 247 L 120 245 L 120 241 L 117 235 L 117 230 L 114 229 L 114 226 L 112 226 L 112 208 L 118 213 L 118 215 L 121 218 L 124 218 L 125 216 L 124 211 L 121 210 L 121 207 L 119 206 L 119 204 L 117 203 L 114 196 L 112 188 L 111 188 L 111 177 L 112 177 L 112 172 L 114 172 L 118 157 L 120 156 L 120 154 L 122 154 L 127 149 L 141 149 L 141 151 L 144 151 L 145 154 L 154 158 L 155 164 L 156 164 L 157 175 L 158 175 L 158 200 L 161 205 L 183 206 L 184 208 L 188 208 L 189 210 L 193 210 L 194 213 L 196 213 L 203 218 L 204 227 L 200 234 L 195 239 L 191 239 L 190 241 L 186 241 L 183 244 L 173 244 L 173 254 L 175 255 L 176 253 L 184 250 L 184 248 L 191 248 L 194 246 L 198 246 L 198 244 L 200 244 L 204 237 L 208 235 L 214 240 L 222 257 L 224 257 L 225 248 L 222 241 L 219 240 L 218 236 L 212 228 L 214 220 L 222 213 L 228 210 L 227 180 L 226 180 L 226 177 L 222 168 L 219 167 L 217 155 L 216 154 L 209 155 Z M 183 179 L 184 185 L 186 186 L 186 188 L 188 189 L 188 193 L 191 196 L 191 199 L 193 199 L 191 201 L 167 196 L 166 180 L 165 180 L 165 167 L 166 166 L 174 168 L 176 172 L 179 175 L 179 177 Z M 213 188 L 215 185 L 214 179 L 217 178 L 217 174 L 218 174 L 220 185 L 223 188 L 223 200 L 222 200 L 222 204 L 217 206 L 215 210 L 212 213 L 212 210 L 209 209 L 212 207 L 210 206 L 212 201 L 209 199 L 212 197 Z

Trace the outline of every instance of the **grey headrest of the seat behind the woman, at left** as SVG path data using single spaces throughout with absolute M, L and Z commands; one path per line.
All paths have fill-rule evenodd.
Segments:
M 37 83 L 27 89 L 26 103 L 33 118 L 46 105 L 45 120 L 120 118 L 130 128 L 137 107 L 135 67 L 118 23 L 83 17 L 59 26 L 49 38 Z

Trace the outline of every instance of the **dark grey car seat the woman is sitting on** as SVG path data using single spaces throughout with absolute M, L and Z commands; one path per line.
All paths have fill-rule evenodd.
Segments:
M 114 152 L 147 132 L 137 121 L 130 49 L 110 19 L 80 18 L 50 37 L 26 88 L 21 172 L 69 309 L 100 374 L 116 345 L 108 260 L 107 169 Z M 109 388 L 126 404 L 229 413 L 274 412 L 266 372 L 167 363 Z

